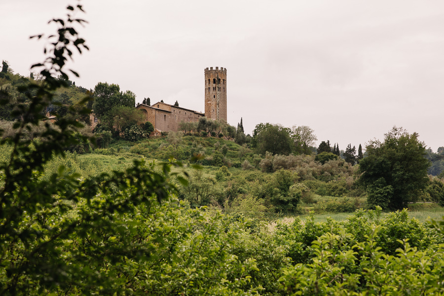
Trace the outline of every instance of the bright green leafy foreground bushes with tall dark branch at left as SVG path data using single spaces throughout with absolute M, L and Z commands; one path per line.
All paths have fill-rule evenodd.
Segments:
M 171 173 L 176 162 L 135 161 L 84 179 L 60 166 L 42 176 L 54 156 L 87 140 L 69 118 L 57 129 L 45 124 L 37 140 L 24 134 L 61 85 L 51 73 L 66 76 L 67 47 L 83 44 L 67 27 L 80 20 L 68 16 L 54 20 L 60 35 L 40 72 L 45 82 L 28 86 L 32 103 L 15 136 L 1 142 L 9 153 L 0 163 L 1 295 L 444 294 L 444 222 L 428 229 L 406 211 L 381 219 L 377 208 L 343 223 L 296 220 L 266 230 L 179 202 L 173 180 L 186 181 Z M 305 189 L 292 188 L 292 173 L 275 174 L 285 175 L 273 181 L 280 201 L 300 198 Z M 257 205 L 250 201 L 240 207 Z

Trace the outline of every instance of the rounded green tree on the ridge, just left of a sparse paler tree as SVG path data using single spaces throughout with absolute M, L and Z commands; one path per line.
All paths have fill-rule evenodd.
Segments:
M 290 154 L 293 151 L 291 130 L 279 124 L 260 123 L 253 131 L 253 139 L 258 153 Z M 253 143 L 253 141 L 252 141 Z

